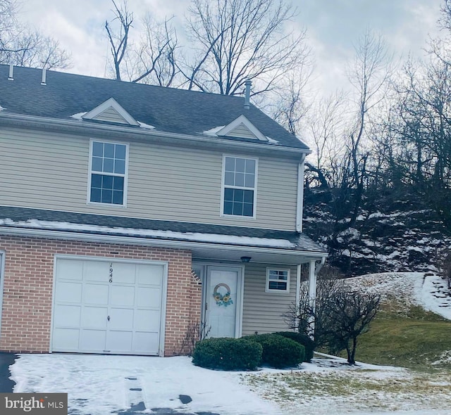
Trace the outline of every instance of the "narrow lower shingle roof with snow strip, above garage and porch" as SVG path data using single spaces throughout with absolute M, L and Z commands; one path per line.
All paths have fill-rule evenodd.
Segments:
M 79 226 L 74 227 L 73 225 Z M 311 241 L 306 235 L 295 231 L 159 221 L 0 206 L 0 229 L 8 227 L 70 231 L 82 234 L 130 236 L 159 240 L 166 239 L 171 241 L 216 242 L 226 245 L 288 248 L 290 250 L 302 250 L 311 253 L 326 253 L 326 250 L 314 243 L 314 241 Z M 152 234 L 152 231 L 155 231 L 154 234 Z M 215 238 L 216 236 L 218 236 L 217 240 Z M 225 240 L 221 236 L 230 236 L 232 238 Z M 236 237 L 236 239 L 233 239 L 233 237 Z M 255 239 L 251 241 L 250 238 Z

